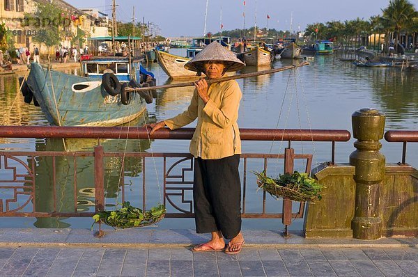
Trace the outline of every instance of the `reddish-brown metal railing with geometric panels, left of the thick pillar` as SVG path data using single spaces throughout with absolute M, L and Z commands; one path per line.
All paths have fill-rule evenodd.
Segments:
M 72 139 L 169 139 L 169 140 L 189 140 L 192 139 L 194 128 L 182 128 L 174 131 L 161 129 L 153 136 L 149 136 L 146 128 L 143 127 L 12 127 L 1 126 L 0 138 L 72 138 Z M 268 169 L 270 159 L 281 159 L 284 162 L 284 172 L 293 172 L 293 166 L 297 159 L 305 161 L 304 171 L 311 171 L 312 154 L 295 154 L 291 148 L 292 141 L 329 141 L 332 147 L 331 163 L 334 163 L 334 148 L 336 141 L 348 141 L 350 132 L 346 130 L 325 130 L 325 129 L 240 129 L 242 141 L 287 141 L 288 147 L 284 153 L 279 154 L 255 154 L 245 153 L 240 155 L 242 163 L 242 217 L 245 218 L 272 218 L 282 219 L 285 225 L 291 223 L 291 219 L 302 218 L 304 213 L 304 203 L 300 204 L 297 212 L 292 212 L 291 201 L 284 200 L 282 211 L 268 212 L 266 209 L 266 193 L 262 194 L 261 212 L 251 212 L 247 209 L 248 197 L 248 163 L 253 159 L 262 161 L 262 168 Z M 44 159 L 51 159 L 48 170 L 52 171 L 51 184 L 43 184 L 46 189 L 37 189 L 40 184 L 36 182 L 36 176 L 42 174 L 37 172 L 36 165 Z M 67 178 L 70 179 L 72 187 L 71 197 L 68 201 L 72 203 L 65 212 L 57 208 L 57 189 L 62 189 L 62 185 L 57 185 L 57 166 L 58 159 L 65 159 L 70 164 Z M 79 206 L 79 187 L 81 186 L 79 177 L 79 164 L 82 159 L 92 159 L 94 176 L 89 190 L 94 192 L 89 196 L 91 208 L 93 210 L 81 210 Z M 76 217 L 92 216 L 98 210 L 105 207 L 106 195 L 109 193 L 105 187 L 105 166 L 107 159 L 118 159 L 120 161 L 120 171 L 125 173 L 127 159 L 137 159 L 140 164 L 142 177 L 142 207 L 146 209 L 147 191 L 147 165 L 153 159 L 162 160 L 163 171 L 163 201 L 164 205 L 169 205 L 166 217 L 193 217 L 193 201 L 187 198 L 187 193 L 192 191 L 192 178 L 187 178 L 187 173 L 193 171 L 193 157 L 188 153 L 162 153 L 162 152 L 105 152 L 100 141 L 91 151 L 0 151 L 0 216 L 36 216 L 36 217 Z M 1 174 L 3 171 L 3 174 Z M 9 174 L 4 174 L 8 171 Z M 10 174 L 11 173 L 11 174 Z M 139 174 L 136 175 L 137 177 Z M 125 174 L 121 174 L 116 181 L 117 187 L 114 191 L 120 191 L 122 202 L 127 198 L 125 189 Z M 85 184 L 84 184 L 85 185 Z M 3 193 L 4 191 L 13 193 Z M 49 201 L 49 210 L 38 209 L 37 201 L 42 193 L 52 194 Z M 21 200 L 20 198 L 24 198 Z M 16 205 L 22 203 L 21 205 Z M 39 203 L 38 203 L 39 204 Z M 14 207 L 12 207 L 15 205 Z M 45 208 L 44 208 L 45 209 Z M 81 210 L 81 211 L 80 211 Z

